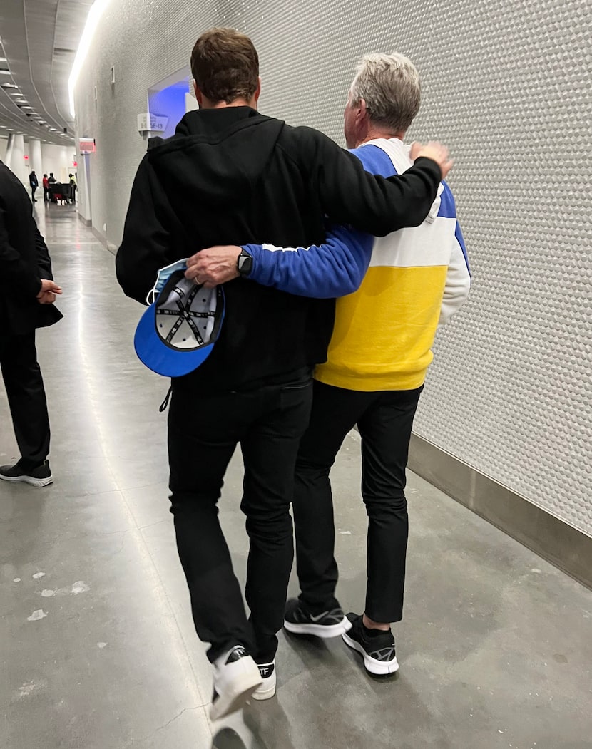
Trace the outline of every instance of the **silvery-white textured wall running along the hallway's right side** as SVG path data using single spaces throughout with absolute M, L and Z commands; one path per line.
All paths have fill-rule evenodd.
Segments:
M 339 142 L 356 59 L 405 52 L 423 77 L 410 136 L 453 148 L 474 270 L 468 306 L 438 339 L 417 432 L 592 533 L 588 13 L 587 0 L 112 2 L 76 97 L 79 134 L 97 138 L 94 225 L 120 240 L 145 151 L 136 114 L 205 28 L 253 37 L 262 112 Z

